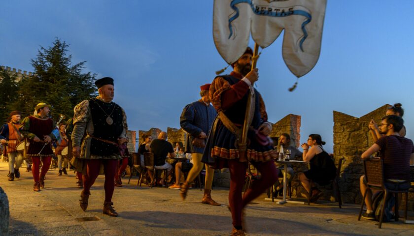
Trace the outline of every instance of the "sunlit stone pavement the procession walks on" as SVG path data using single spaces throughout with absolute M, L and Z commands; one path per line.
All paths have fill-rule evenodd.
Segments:
M 9 235 L 229 235 L 231 215 L 227 207 L 201 204 L 200 189 L 191 189 L 186 201 L 178 190 L 138 187 L 133 178 L 124 187 L 116 187 L 114 207 L 119 217 L 102 214 L 104 177 L 99 176 L 92 187 L 89 207 L 79 207 L 80 190 L 75 187 L 73 171 L 57 176 L 50 170 L 45 189 L 33 191 L 32 173 L 21 169 L 21 177 L 7 181 L 7 163 L 0 162 L 0 186 L 10 203 Z M 219 203 L 228 204 L 228 190 L 214 189 L 212 196 Z M 264 195 L 246 208 L 249 236 L 273 235 L 398 235 L 413 236 L 414 225 L 402 222 L 383 223 L 357 221 L 357 205 L 321 203 L 308 205 L 277 205 L 264 200 Z M 401 212 L 402 214 L 403 212 Z M 413 212 L 411 217 L 413 217 Z M 79 221 L 80 217 L 97 217 L 97 221 Z

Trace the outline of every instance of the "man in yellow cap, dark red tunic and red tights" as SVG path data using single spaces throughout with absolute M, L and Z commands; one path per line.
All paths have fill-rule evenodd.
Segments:
M 44 177 L 52 161 L 53 150 L 50 142 L 56 140 L 52 133 L 55 129 L 55 122 L 49 118 L 50 105 L 41 102 L 35 107 L 35 115 L 23 119 L 22 134 L 29 140 L 27 156 L 32 158 L 32 174 L 35 184 L 33 191 L 38 192 L 44 188 Z M 40 158 L 42 158 L 42 170 L 39 175 Z

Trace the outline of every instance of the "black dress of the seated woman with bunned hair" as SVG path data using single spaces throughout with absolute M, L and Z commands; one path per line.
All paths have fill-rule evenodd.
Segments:
M 320 146 L 319 146 L 320 147 Z M 322 152 L 311 159 L 311 169 L 305 176 L 319 185 L 327 185 L 336 176 L 336 167 L 331 156 L 322 148 Z

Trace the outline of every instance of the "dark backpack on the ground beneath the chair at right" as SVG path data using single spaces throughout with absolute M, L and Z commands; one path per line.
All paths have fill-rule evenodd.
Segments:
M 384 205 L 384 191 L 380 191 L 373 196 L 372 208 L 374 210 L 375 220 L 380 221 L 381 207 Z M 385 201 L 384 216 L 382 222 L 388 222 L 394 219 L 392 207 L 395 205 L 395 196 L 389 194 Z

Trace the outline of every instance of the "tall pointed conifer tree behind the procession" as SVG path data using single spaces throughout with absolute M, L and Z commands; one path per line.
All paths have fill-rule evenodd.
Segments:
M 56 38 L 52 47 L 40 47 L 37 58 L 32 59 L 35 75 L 22 81 L 21 99 L 13 103 L 24 116 L 33 114 L 39 102 L 51 105 L 52 116 L 73 117 L 73 107 L 84 99 L 96 96 L 95 74 L 82 73 L 86 61 L 72 65 L 67 55 L 69 45 Z

